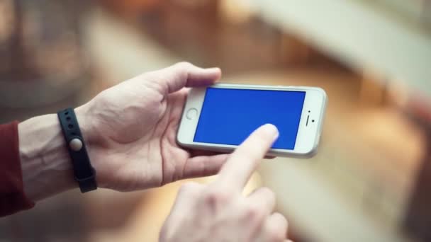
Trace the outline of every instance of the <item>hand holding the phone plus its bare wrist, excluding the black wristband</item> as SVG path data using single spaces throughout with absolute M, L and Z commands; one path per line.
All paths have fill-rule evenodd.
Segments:
M 213 175 L 227 155 L 188 151 L 176 136 L 187 90 L 220 79 L 218 68 L 189 63 L 142 74 L 75 109 L 100 188 L 129 191 Z M 23 187 L 32 201 L 77 188 L 55 114 L 18 125 Z

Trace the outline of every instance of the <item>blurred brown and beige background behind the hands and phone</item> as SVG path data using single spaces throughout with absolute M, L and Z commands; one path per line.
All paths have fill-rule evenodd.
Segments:
M 247 187 L 276 192 L 294 241 L 431 241 L 430 0 L 0 0 L 1 123 L 179 61 L 327 91 L 318 155 Z M 179 185 L 66 192 L 1 218 L 0 241 L 157 241 Z

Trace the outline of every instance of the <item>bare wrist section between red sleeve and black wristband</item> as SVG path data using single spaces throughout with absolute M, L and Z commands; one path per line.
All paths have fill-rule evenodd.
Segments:
M 24 191 L 33 201 L 77 187 L 57 115 L 33 117 L 18 125 Z

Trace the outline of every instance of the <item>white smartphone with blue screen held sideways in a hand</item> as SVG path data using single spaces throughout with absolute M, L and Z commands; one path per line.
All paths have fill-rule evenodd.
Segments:
M 268 156 L 308 158 L 322 132 L 327 96 L 322 88 L 219 83 L 191 88 L 181 117 L 180 146 L 231 152 L 257 127 L 279 129 Z

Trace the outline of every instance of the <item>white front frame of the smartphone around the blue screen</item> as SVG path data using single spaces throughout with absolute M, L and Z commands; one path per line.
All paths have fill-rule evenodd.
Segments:
M 294 149 L 270 149 L 269 156 L 289 156 L 307 158 L 313 156 L 317 151 L 325 116 L 327 96 L 322 88 L 306 86 L 261 86 L 261 85 L 242 85 L 230 83 L 218 83 L 211 88 L 230 88 L 230 89 L 251 89 L 251 90 L 271 90 L 271 91 L 304 91 L 303 110 L 298 127 L 298 134 Z M 177 142 L 181 146 L 205 149 L 211 151 L 230 152 L 236 145 L 212 144 L 194 142 L 194 135 L 198 120 L 201 115 L 203 100 L 205 100 L 206 88 L 191 88 L 187 96 L 184 112 L 181 116 Z M 191 109 L 196 109 L 196 117 L 188 118 L 187 113 Z M 309 111 L 309 112 L 308 112 Z M 309 117 L 308 117 L 309 116 Z M 307 123 L 308 117 L 308 125 Z M 311 122 L 315 120 L 315 122 Z

